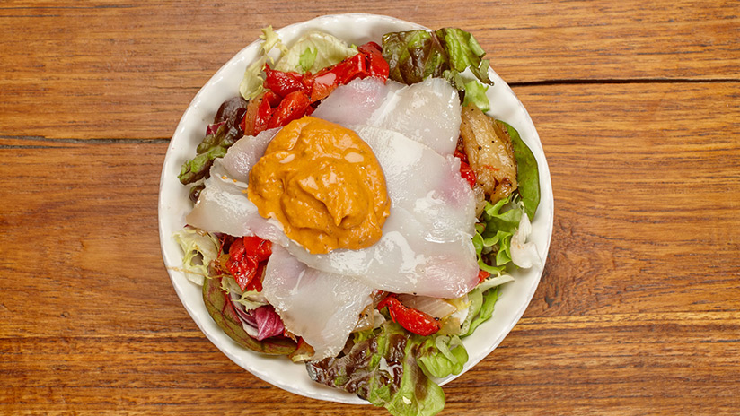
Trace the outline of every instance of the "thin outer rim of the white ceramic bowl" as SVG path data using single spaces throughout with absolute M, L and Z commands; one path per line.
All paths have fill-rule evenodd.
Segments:
M 289 32 L 295 32 L 296 30 L 306 30 L 305 28 L 309 28 L 311 26 L 325 26 L 330 23 L 335 22 L 355 22 L 355 23 L 364 23 L 368 25 L 372 24 L 379 24 L 380 22 L 386 23 L 393 26 L 404 26 L 407 27 L 407 30 L 413 30 L 413 29 L 425 29 L 428 30 L 428 28 L 419 25 L 418 23 L 414 22 L 408 22 L 404 21 L 402 19 L 398 19 L 392 16 L 382 15 L 382 14 L 371 14 L 371 13 L 339 13 L 339 14 L 328 14 L 328 15 L 322 15 L 313 19 L 310 19 L 308 21 L 304 22 L 295 22 L 290 25 L 287 25 L 283 28 L 280 28 L 278 30 L 275 30 L 278 35 L 281 35 L 281 38 L 284 34 Z M 295 37 L 295 34 L 294 34 Z M 257 360 L 269 360 L 270 362 L 276 360 L 273 357 L 261 355 L 258 353 L 255 353 L 253 351 L 249 351 L 247 349 L 243 349 L 242 347 L 238 346 L 235 342 L 233 342 L 230 338 L 226 342 L 232 342 L 233 345 L 225 345 L 224 344 L 224 336 L 226 336 L 223 331 L 218 328 L 218 331 L 223 336 L 219 336 L 218 334 L 213 333 L 212 325 L 207 325 L 207 322 L 203 322 L 202 320 L 202 311 L 199 310 L 200 308 L 205 309 L 205 305 L 203 305 L 202 299 L 200 299 L 200 308 L 198 308 L 198 305 L 193 305 L 190 303 L 190 301 L 187 301 L 186 294 L 184 293 L 182 280 L 184 279 L 187 281 L 187 278 L 182 274 L 181 272 L 178 272 L 176 270 L 177 266 L 181 264 L 182 256 L 180 255 L 179 258 L 176 255 L 172 254 L 172 248 L 170 247 L 168 249 L 168 245 L 166 244 L 167 241 L 172 240 L 172 234 L 168 233 L 167 231 L 169 228 L 167 227 L 168 221 L 171 221 L 172 218 L 170 218 L 169 214 L 172 213 L 172 206 L 169 205 L 171 201 L 168 201 L 166 197 L 169 195 L 167 192 L 167 186 L 168 186 L 168 180 L 171 179 L 171 173 L 172 165 L 175 164 L 176 167 L 179 167 L 179 164 L 176 164 L 175 162 L 181 163 L 181 160 L 174 160 L 174 154 L 176 152 L 176 147 L 181 144 L 182 140 L 181 137 L 184 136 L 186 133 L 185 131 L 190 128 L 189 126 L 193 124 L 192 117 L 197 117 L 198 111 L 202 111 L 201 106 L 207 105 L 207 104 L 213 104 L 210 102 L 204 102 L 204 98 L 207 96 L 207 91 L 209 89 L 214 88 L 214 85 L 216 85 L 217 82 L 220 82 L 223 80 L 225 71 L 227 71 L 227 68 L 231 68 L 233 65 L 237 65 L 240 61 L 245 61 L 246 56 L 249 56 L 252 54 L 252 52 L 256 52 L 257 48 L 259 48 L 259 45 L 261 43 L 260 39 L 255 39 L 253 42 L 251 42 L 248 46 L 242 48 L 239 52 L 237 52 L 232 58 L 230 58 L 224 65 L 222 65 L 215 74 L 213 74 L 208 81 L 198 90 L 198 93 L 194 96 L 194 98 L 190 101 L 188 108 L 183 112 L 181 116 L 181 120 L 178 123 L 178 126 L 175 129 L 174 134 L 172 135 L 172 140 L 170 145 L 168 146 L 167 153 L 165 154 L 164 162 L 163 162 L 163 170 L 162 174 L 160 176 L 160 186 L 159 186 L 159 197 L 158 197 L 158 226 L 159 226 L 159 238 L 160 238 L 160 247 L 162 250 L 163 255 L 163 263 L 165 265 L 165 269 L 167 270 L 173 288 L 175 289 L 178 298 L 181 300 L 181 303 L 183 307 L 188 311 L 189 316 L 193 319 L 193 321 L 198 325 L 198 328 L 205 334 L 210 342 L 212 342 L 216 348 L 218 348 L 220 351 L 222 351 L 230 360 L 232 360 L 234 363 L 239 365 L 241 368 L 246 369 L 247 371 L 251 372 L 256 377 L 259 377 L 260 379 L 268 382 L 269 384 L 273 386 L 278 386 L 288 392 L 294 393 L 294 394 L 300 394 L 305 397 L 320 399 L 320 400 L 327 400 L 327 401 L 333 401 L 338 403 L 353 403 L 353 404 L 366 404 L 367 402 L 359 399 L 354 394 L 348 394 L 342 391 L 339 391 L 338 389 L 331 389 L 330 387 L 321 386 L 318 384 L 315 384 L 317 388 L 313 389 L 313 391 L 308 392 L 305 391 L 303 388 L 298 388 L 293 383 L 286 383 L 285 381 L 276 380 L 275 377 L 271 377 L 271 375 L 263 370 L 261 368 L 254 368 L 253 366 L 248 365 L 249 362 L 243 360 L 243 357 L 239 357 L 236 354 L 234 354 L 233 348 L 227 348 L 227 347 L 233 347 L 233 345 L 236 345 L 238 348 L 242 349 L 243 352 L 246 352 L 248 356 L 256 356 Z M 286 41 L 288 43 L 288 41 Z M 253 54 L 252 54 L 253 55 Z M 249 62 L 247 62 L 246 65 L 248 65 Z M 233 69 L 233 68 L 232 68 Z M 242 74 L 243 74 L 243 68 L 242 68 Z M 541 230 L 541 234 L 543 238 L 540 238 L 539 245 L 538 245 L 538 253 L 540 253 L 542 257 L 542 264 L 539 268 L 539 271 L 536 273 L 535 278 L 530 278 L 529 284 L 526 286 L 526 292 L 523 293 L 524 297 L 519 296 L 522 301 L 517 302 L 516 305 L 517 308 L 513 311 L 513 313 L 509 313 L 509 319 L 505 323 L 505 325 L 501 326 L 498 330 L 498 335 L 493 338 L 489 339 L 489 345 L 487 348 L 484 348 L 483 350 L 476 351 L 475 354 L 470 354 L 471 351 L 469 351 L 470 359 L 468 362 L 464 365 L 463 371 L 454 376 L 445 377 L 440 381 L 440 385 L 443 386 L 457 377 L 461 377 L 467 370 L 477 365 L 480 360 L 483 360 L 486 358 L 491 351 L 494 351 L 498 345 L 504 340 L 504 338 L 511 332 L 513 327 L 519 322 L 521 317 L 524 315 L 524 311 L 526 308 L 528 308 L 529 304 L 531 303 L 533 299 L 533 295 L 535 290 L 537 289 L 540 280 L 542 279 L 542 273 L 544 270 L 544 265 L 547 259 L 547 254 L 549 253 L 550 244 L 551 244 L 551 234 L 552 234 L 552 228 L 553 228 L 553 221 L 554 221 L 554 202 L 553 202 L 553 196 L 552 196 L 552 188 L 551 188 L 551 176 L 550 176 L 550 169 L 547 164 L 547 160 L 545 158 L 544 151 L 542 149 L 542 142 L 540 140 L 539 134 L 537 134 L 536 128 L 533 125 L 532 118 L 529 116 L 529 113 L 526 111 L 526 108 L 524 108 L 524 105 L 521 103 L 520 100 L 516 97 L 514 91 L 511 90 L 511 88 L 508 86 L 506 82 L 504 82 L 503 79 L 501 79 L 498 74 L 492 69 L 489 68 L 489 74 L 492 76 L 492 79 L 495 82 L 495 85 L 493 88 L 500 89 L 501 93 L 507 95 L 510 100 L 509 105 L 515 105 L 516 108 L 513 109 L 514 113 L 517 114 L 517 117 L 523 117 L 522 120 L 520 120 L 520 123 L 524 123 L 527 126 L 527 136 L 524 137 L 523 140 L 527 145 L 532 149 L 533 153 L 536 156 L 538 167 L 540 171 L 540 186 L 541 186 L 541 202 L 540 206 L 538 207 L 537 216 L 535 216 L 535 219 L 533 221 L 533 230 L 535 227 L 535 221 L 538 224 L 538 226 L 542 227 L 542 224 L 544 224 L 545 228 Z M 238 91 L 238 85 L 235 86 L 236 91 Z M 493 103 L 493 101 L 491 101 Z M 512 104 L 513 103 L 513 104 Z M 216 103 L 216 108 L 220 105 L 220 102 Z M 212 113 L 215 113 L 216 108 L 213 108 Z M 198 111 L 197 111 L 198 110 Z M 522 113 L 523 112 L 523 113 Z M 509 120 L 505 119 L 505 121 L 509 122 Z M 198 123 L 207 123 L 207 120 L 197 120 Z M 198 124 L 196 123 L 196 124 Z M 519 130 L 519 128 L 517 128 Z M 521 130 L 520 134 L 522 133 Z M 202 131 L 201 131 L 202 133 Z M 202 135 L 200 136 L 200 139 L 202 139 Z M 543 192 L 544 191 L 544 192 Z M 544 207 L 543 207 L 544 205 Z M 539 229 L 538 229 L 539 230 Z M 173 258 L 174 257 L 174 258 Z M 189 283 L 189 282 L 187 282 Z M 512 282 L 514 283 L 514 282 Z M 507 283 L 507 284 L 512 284 Z M 194 283 L 189 283 L 193 284 Z M 503 299 L 503 298 L 502 298 Z M 498 300 L 498 302 L 501 302 L 501 299 Z M 498 307 L 498 303 L 497 303 Z M 494 316 L 489 319 L 486 323 L 481 325 L 478 328 L 478 331 L 480 331 L 482 328 L 485 327 L 487 323 L 490 321 L 493 321 L 496 319 L 497 313 L 494 312 Z M 207 315 L 207 319 L 211 319 L 209 315 Z M 215 325 L 215 323 L 212 323 Z M 500 326 L 500 325 L 499 325 Z M 216 326 L 217 328 L 217 326 Z M 480 333 L 479 333 L 480 334 Z M 475 334 L 473 334 L 475 335 Z M 471 335 L 471 337 L 473 336 Z M 469 337 L 470 338 L 470 337 Z M 468 340 L 469 338 L 466 338 L 465 340 Z M 465 343 L 465 340 L 463 340 L 463 344 Z M 466 345 L 467 348 L 467 345 Z M 254 357 L 250 357 L 253 359 Z M 281 360 L 284 360 L 283 358 L 280 358 Z M 289 361 L 289 360 L 286 360 Z M 291 366 L 295 366 L 292 362 L 290 363 Z M 300 367 L 300 366 L 295 366 Z M 273 370 L 275 371 L 275 370 Z M 306 375 L 306 377 L 308 377 Z M 313 383 L 313 382 L 312 382 Z

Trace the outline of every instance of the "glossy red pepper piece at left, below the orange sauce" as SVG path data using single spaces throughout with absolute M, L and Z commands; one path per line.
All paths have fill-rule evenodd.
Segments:
M 272 254 L 272 243 L 259 237 L 242 237 L 233 240 L 229 247 L 229 259 L 226 267 L 232 273 L 233 279 L 242 290 L 257 290 L 264 262 Z M 257 279 L 255 279 L 257 277 Z M 259 282 L 261 290 L 262 282 Z

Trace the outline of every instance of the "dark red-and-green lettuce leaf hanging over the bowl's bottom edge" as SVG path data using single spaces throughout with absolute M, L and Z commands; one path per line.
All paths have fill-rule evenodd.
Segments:
M 357 394 L 394 416 L 431 416 L 445 407 L 445 394 L 418 365 L 418 356 L 433 349 L 427 337 L 412 335 L 387 322 L 378 334 L 357 342 L 340 358 L 306 363 L 318 383 Z

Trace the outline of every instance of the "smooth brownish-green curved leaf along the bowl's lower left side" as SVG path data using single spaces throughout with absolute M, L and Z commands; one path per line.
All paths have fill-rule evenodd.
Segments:
M 296 344 L 289 338 L 281 336 L 258 341 L 247 334 L 242 321 L 233 310 L 229 295 L 221 290 L 220 278 L 206 279 L 203 282 L 203 301 L 216 325 L 242 347 L 270 355 L 288 355 L 295 351 Z

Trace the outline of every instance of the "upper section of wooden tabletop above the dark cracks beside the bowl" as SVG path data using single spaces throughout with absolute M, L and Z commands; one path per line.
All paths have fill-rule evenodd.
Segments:
M 4 2 L 0 134 L 170 137 L 198 89 L 260 28 L 327 13 L 464 26 L 512 83 L 737 81 L 739 7 L 736 1 L 435 0 L 316 2 L 295 11 L 279 1 Z

